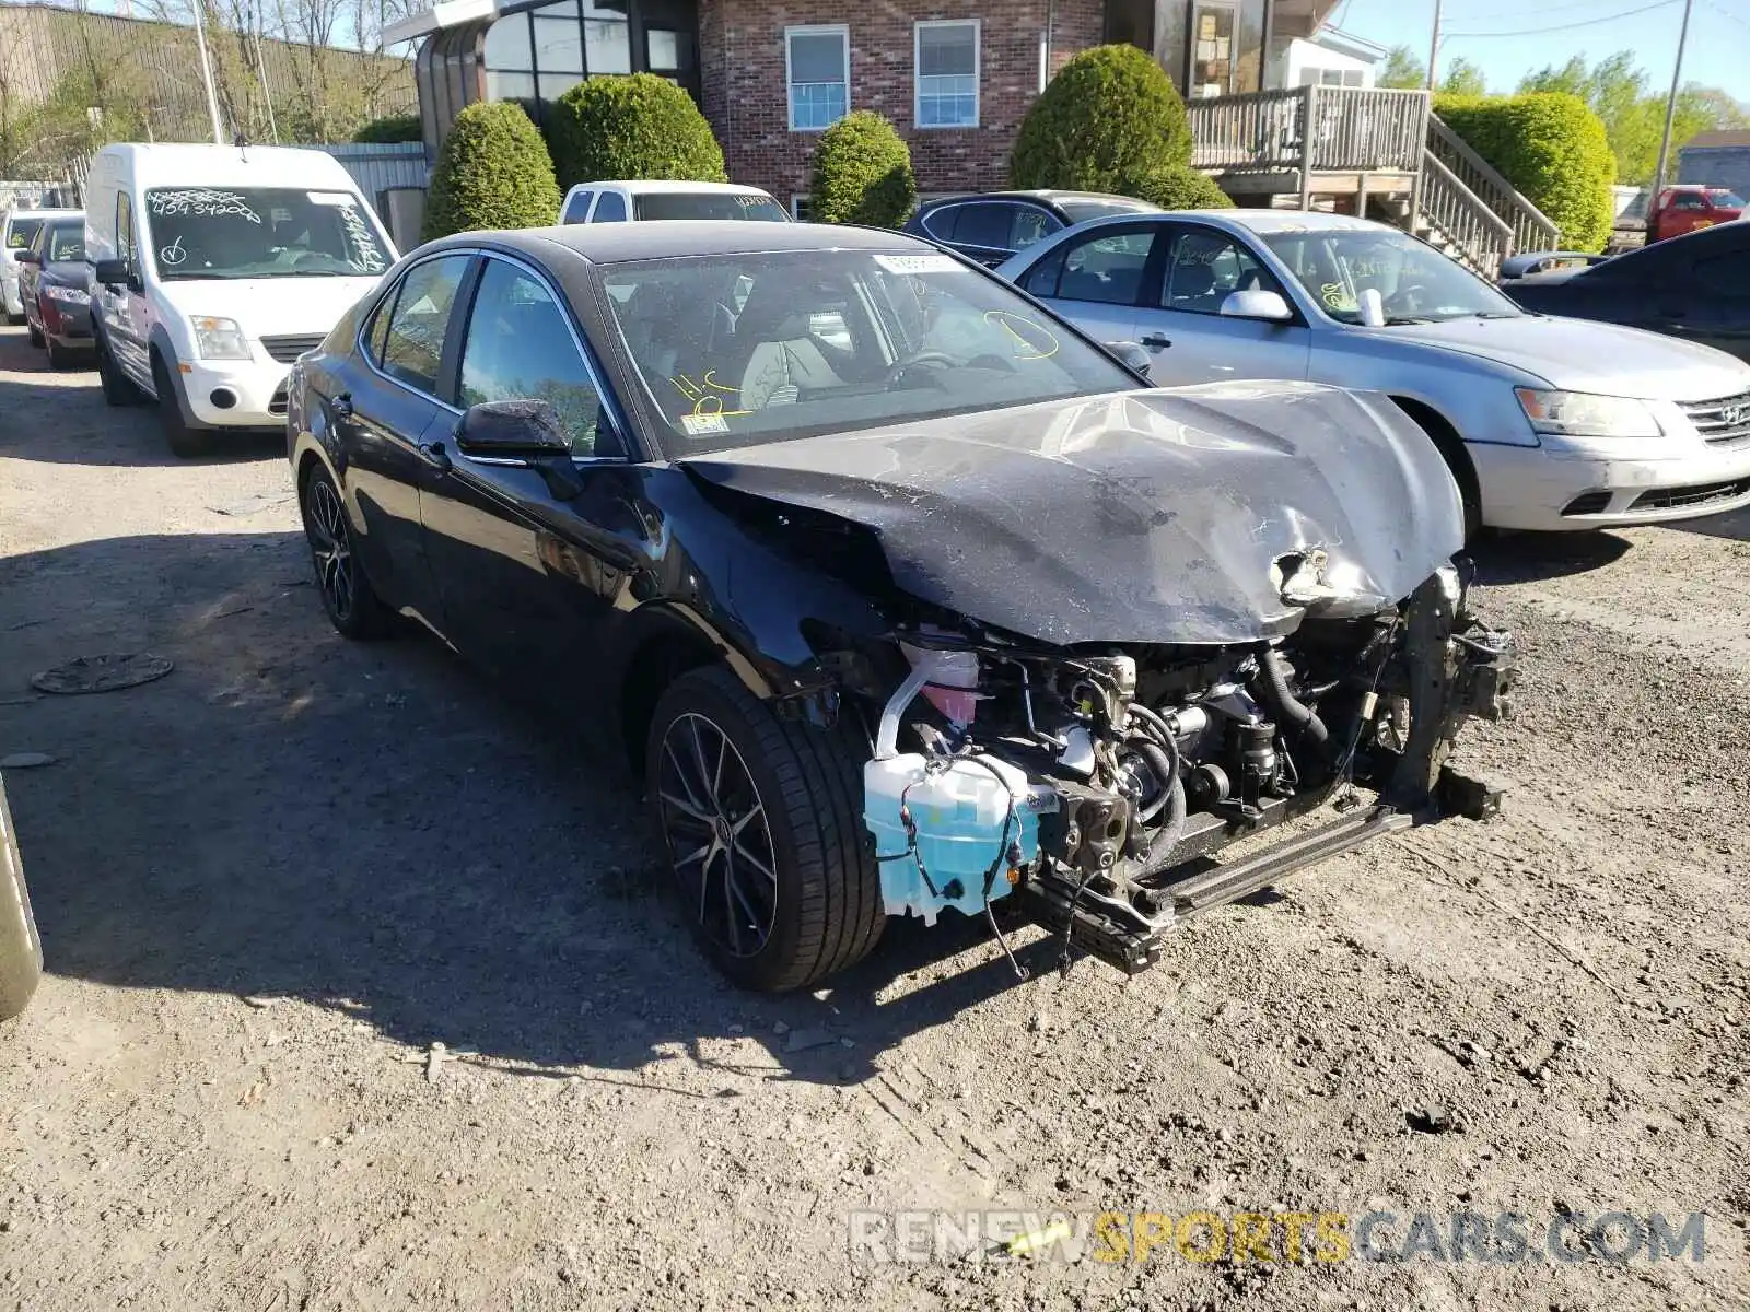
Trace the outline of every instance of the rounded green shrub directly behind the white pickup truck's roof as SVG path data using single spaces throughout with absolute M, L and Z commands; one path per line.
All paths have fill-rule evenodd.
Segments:
M 681 87 L 654 73 L 592 77 L 553 107 L 548 145 L 560 189 L 579 182 L 728 182 L 723 147 Z

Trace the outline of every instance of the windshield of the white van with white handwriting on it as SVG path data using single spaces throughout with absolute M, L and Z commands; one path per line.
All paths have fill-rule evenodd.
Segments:
M 177 187 L 145 192 L 158 276 L 360 278 L 388 268 L 388 241 L 348 191 Z

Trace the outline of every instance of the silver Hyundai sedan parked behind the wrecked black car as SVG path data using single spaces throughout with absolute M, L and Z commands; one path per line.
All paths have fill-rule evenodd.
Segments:
M 1750 504 L 1750 423 L 1722 422 L 1750 399 L 1750 366 L 1528 315 L 1384 224 L 1288 210 L 1101 219 L 999 273 L 1097 338 L 1139 339 L 1160 383 L 1304 378 L 1390 395 L 1446 457 L 1472 528 Z

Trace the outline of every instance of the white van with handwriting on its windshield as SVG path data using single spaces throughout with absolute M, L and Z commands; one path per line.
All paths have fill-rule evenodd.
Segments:
M 285 376 L 396 262 L 320 150 L 107 145 L 86 180 L 103 399 L 158 401 L 177 455 L 285 423 Z

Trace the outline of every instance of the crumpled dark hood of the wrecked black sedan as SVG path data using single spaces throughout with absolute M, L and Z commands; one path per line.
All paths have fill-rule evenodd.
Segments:
M 1283 556 L 1381 605 L 1463 544 L 1458 488 L 1386 397 L 1118 392 L 682 460 L 866 525 L 906 593 L 1043 642 L 1251 642 L 1306 614 Z

